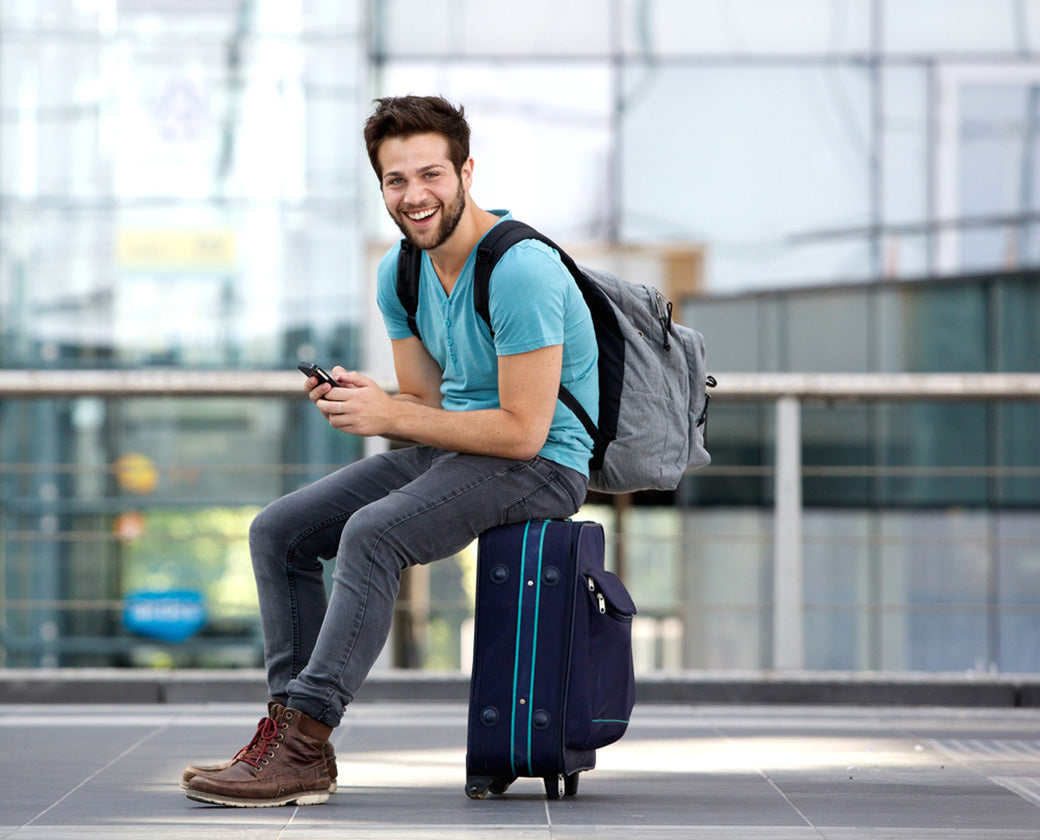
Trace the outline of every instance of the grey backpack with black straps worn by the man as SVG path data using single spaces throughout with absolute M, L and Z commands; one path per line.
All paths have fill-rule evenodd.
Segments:
M 491 324 L 491 272 L 523 239 L 538 239 L 560 254 L 592 312 L 599 345 L 599 423 L 560 386 L 560 399 L 592 436 L 589 487 L 601 493 L 675 490 L 687 469 L 711 461 L 704 448 L 707 386 L 704 337 L 672 321 L 672 304 L 649 286 L 579 267 L 558 245 L 521 221 L 500 221 L 480 241 L 473 278 L 473 306 Z M 422 252 L 401 241 L 397 296 L 412 333 L 419 336 Z M 419 336 L 421 338 L 421 336 Z

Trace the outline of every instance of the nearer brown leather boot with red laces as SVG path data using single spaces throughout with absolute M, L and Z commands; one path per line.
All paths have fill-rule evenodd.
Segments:
M 324 756 L 331 733 L 331 727 L 283 708 L 260 721 L 253 742 L 228 767 L 191 777 L 187 796 L 235 808 L 323 803 L 332 783 Z

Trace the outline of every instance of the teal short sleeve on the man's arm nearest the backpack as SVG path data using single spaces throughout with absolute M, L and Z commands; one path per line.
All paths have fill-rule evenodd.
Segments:
M 513 356 L 564 343 L 564 311 L 574 279 L 537 240 L 511 247 L 491 275 L 489 309 L 495 352 Z

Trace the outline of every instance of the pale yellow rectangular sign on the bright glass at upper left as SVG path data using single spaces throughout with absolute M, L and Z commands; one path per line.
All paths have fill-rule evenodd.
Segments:
M 124 228 L 116 240 L 123 268 L 229 269 L 238 263 L 235 232 L 224 228 Z

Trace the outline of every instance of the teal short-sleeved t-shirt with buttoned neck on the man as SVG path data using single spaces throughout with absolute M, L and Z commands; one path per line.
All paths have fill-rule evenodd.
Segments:
M 492 212 L 511 217 L 503 210 Z M 380 261 L 376 275 L 379 307 L 391 339 L 412 335 L 397 297 L 399 253 L 398 242 Z M 415 317 L 422 343 L 443 371 L 441 406 L 453 412 L 499 408 L 498 357 L 562 344 L 562 382 L 596 420 L 596 334 L 589 307 L 556 252 L 542 242 L 524 240 L 499 260 L 491 274 L 489 300 L 494 338 L 473 307 L 475 255 L 474 247 L 450 295 L 444 293 L 430 256 L 422 255 Z M 589 475 L 592 439 L 558 400 L 539 454 Z

